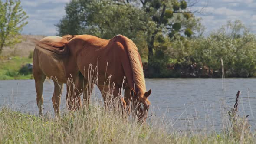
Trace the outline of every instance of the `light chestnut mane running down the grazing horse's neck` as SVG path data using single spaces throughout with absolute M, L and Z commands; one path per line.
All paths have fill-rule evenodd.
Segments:
M 121 43 L 125 48 L 126 57 L 128 57 L 128 62 L 125 58 L 122 58 L 122 66 L 125 71 L 125 75 L 128 77 L 128 84 L 131 88 L 134 87 L 140 91 L 146 90 L 145 78 L 143 73 L 143 66 L 141 62 L 141 57 L 138 52 L 138 48 L 133 43 L 131 39 L 128 39 L 125 36 L 118 35 L 120 37 Z

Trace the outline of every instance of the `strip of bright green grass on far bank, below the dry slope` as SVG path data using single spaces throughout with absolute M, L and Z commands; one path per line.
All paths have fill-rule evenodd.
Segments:
M 0 59 L 0 80 L 9 79 L 33 79 L 32 74 L 22 75 L 19 73 L 21 67 L 32 63 L 32 59 L 15 56 L 12 59 Z

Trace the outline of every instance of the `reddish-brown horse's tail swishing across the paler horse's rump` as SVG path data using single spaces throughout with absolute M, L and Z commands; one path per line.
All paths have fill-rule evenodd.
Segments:
M 54 41 L 47 41 L 47 40 L 41 40 L 37 43 L 36 46 L 40 47 L 40 50 L 42 50 L 45 53 L 53 54 L 53 56 L 56 59 L 61 59 L 62 57 L 68 55 L 69 49 L 66 47 L 67 43 L 78 35 L 65 35 L 62 37 L 62 39 L 58 42 Z

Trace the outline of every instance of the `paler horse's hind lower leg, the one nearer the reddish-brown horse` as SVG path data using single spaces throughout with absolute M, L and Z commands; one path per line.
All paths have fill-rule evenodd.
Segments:
M 54 82 L 54 92 L 53 92 L 53 108 L 54 108 L 54 114 L 55 116 L 59 116 L 59 105 L 60 105 L 60 98 L 63 91 L 63 84 Z

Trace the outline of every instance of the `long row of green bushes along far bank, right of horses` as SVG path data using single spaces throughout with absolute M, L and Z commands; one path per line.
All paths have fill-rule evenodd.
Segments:
M 227 26 L 231 30 L 224 26 L 207 37 L 194 39 L 181 38 L 171 33 L 171 40 L 158 40 L 155 43 L 153 62 L 148 65 L 148 70 L 145 70 L 152 72 L 151 75 L 145 75 L 221 77 L 220 59 L 223 59 L 226 77 L 256 76 L 256 35 L 249 33 L 241 25 L 239 21 L 234 24 L 229 22 Z M 166 49 L 163 49 L 164 45 L 167 46 Z

